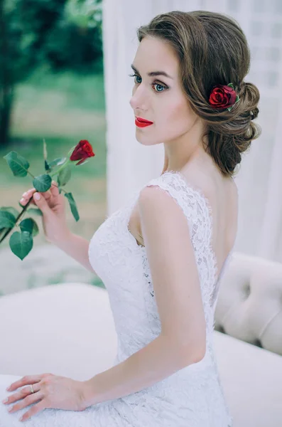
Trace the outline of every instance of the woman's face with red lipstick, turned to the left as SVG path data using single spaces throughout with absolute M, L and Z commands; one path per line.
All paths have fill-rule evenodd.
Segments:
M 136 139 L 144 145 L 166 144 L 189 132 L 197 116 L 180 87 L 178 58 L 168 43 L 143 38 L 132 65 L 134 88 L 129 103 L 135 117 L 153 122 L 136 126 Z M 157 71 L 168 76 L 148 75 Z

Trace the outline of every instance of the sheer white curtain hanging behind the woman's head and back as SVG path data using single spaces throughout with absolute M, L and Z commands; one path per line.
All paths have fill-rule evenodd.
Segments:
M 128 77 L 138 40 L 136 28 L 172 10 L 210 10 L 233 16 L 251 47 L 246 81 L 261 92 L 259 139 L 244 154 L 239 174 L 237 251 L 282 261 L 282 1 L 104 0 L 103 43 L 107 107 L 108 214 L 132 191 L 161 174 L 163 145 L 143 147 L 135 139 Z

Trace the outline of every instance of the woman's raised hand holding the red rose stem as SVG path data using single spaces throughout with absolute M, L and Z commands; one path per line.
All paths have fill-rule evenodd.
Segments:
M 40 199 L 36 199 L 40 196 Z M 50 243 L 57 243 L 65 240 L 70 235 L 65 218 L 65 197 L 59 193 L 58 184 L 52 181 L 48 191 L 39 193 L 36 189 L 29 189 L 23 193 L 20 203 L 25 206 L 29 199 L 33 197 L 31 204 L 38 206 L 43 214 L 43 230 L 45 238 Z

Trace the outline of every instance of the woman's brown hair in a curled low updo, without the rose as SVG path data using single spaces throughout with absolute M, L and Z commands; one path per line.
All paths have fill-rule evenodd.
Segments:
M 244 82 L 250 51 L 242 28 L 229 16 L 208 11 L 171 11 L 157 15 L 137 30 L 139 42 L 161 38 L 172 46 L 180 63 L 180 82 L 192 110 L 206 123 L 207 147 L 224 176 L 234 175 L 242 153 L 259 137 L 259 90 Z M 214 110 L 209 95 L 214 85 L 233 83 L 239 95 L 232 110 Z M 166 168 L 167 159 L 165 159 Z

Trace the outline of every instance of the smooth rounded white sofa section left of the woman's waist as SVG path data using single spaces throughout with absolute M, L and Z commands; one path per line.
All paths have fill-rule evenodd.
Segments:
M 0 297 L 0 374 L 89 379 L 112 366 L 116 341 L 102 288 L 64 283 Z

